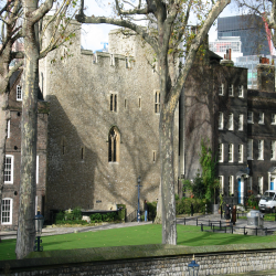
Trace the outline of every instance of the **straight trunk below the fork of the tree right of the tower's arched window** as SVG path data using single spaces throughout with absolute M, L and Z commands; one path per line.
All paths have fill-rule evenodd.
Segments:
M 159 137 L 161 152 L 161 208 L 162 243 L 177 245 L 177 220 L 173 171 L 173 119 L 172 114 L 163 108 L 160 115 Z

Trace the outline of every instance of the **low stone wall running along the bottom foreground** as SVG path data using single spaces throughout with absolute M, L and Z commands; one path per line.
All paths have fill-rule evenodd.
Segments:
M 188 274 L 188 264 L 191 263 L 192 255 L 158 256 L 134 259 L 108 259 L 103 262 L 70 263 L 64 258 L 63 263 L 51 265 L 49 258 L 25 259 L 30 262 L 20 266 L 20 261 L 0 262 L 0 276 L 36 276 L 36 275 L 173 275 L 184 276 Z M 275 251 L 253 251 L 232 253 L 205 253 L 195 256 L 195 262 L 200 265 L 199 275 L 226 275 L 237 273 L 248 273 L 276 268 Z M 44 265 L 43 265 L 44 264 Z M 32 266 L 31 266 L 32 265 Z M 3 272 L 6 270 L 7 274 Z M 272 273 L 269 275 L 276 275 Z

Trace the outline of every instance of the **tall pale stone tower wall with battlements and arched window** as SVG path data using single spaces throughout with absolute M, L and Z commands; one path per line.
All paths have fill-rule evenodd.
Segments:
M 115 33 L 110 38 L 119 39 Z M 137 55 L 128 64 L 125 55 L 81 50 L 81 31 L 68 45 L 73 56 L 61 60 L 66 51 L 61 47 L 41 62 L 42 91 L 51 105 L 47 211 L 76 206 L 106 210 L 117 203 L 126 204 L 129 214 L 137 208 L 138 176 L 140 204 L 158 198 L 159 114 L 155 113 L 155 92 L 159 82 L 138 39 L 132 40 Z M 117 112 L 110 112 L 112 93 L 117 95 Z M 114 126 L 120 135 L 119 160 L 108 162 L 108 132 Z M 178 110 L 174 129 L 178 164 Z M 177 170 L 176 166 L 176 181 Z

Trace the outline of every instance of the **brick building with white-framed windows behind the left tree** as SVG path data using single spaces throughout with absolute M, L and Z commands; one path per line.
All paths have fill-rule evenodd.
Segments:
M 15 72 L 10 79 L 8 137 L 6 141 L 4 185 L 2 191 L 1 229 L 15 230 L 20 192 L 21 163 L 21 115 L 22 115 L 22 71 Z M 49 105 L 39 94 L 38 144 L 36 144 L 36 198 L 35 209 L 42 213 L 45 206 L 46 150 L 47 150 Z

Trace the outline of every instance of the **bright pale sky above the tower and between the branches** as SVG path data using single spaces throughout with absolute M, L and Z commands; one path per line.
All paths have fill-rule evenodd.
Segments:
M 100 7 L 96 3 L 95 0 L 86 0 L 85 6 L 87 7 L 85 14 L 86 15 L 109 15 L 112 13 L 110 6 L 108 2 L 104 4 L 105 1 L 98 1 Z M 112 0 L 110 0 L 112 2 Z M 237 15 L 238 11 L 234 3 L 231 3 L 226 9 L 221 13 L 220 17 L 233 17 Z M 82 31 L 82 45 L 87 50 L 100 50 L 103 49 L 102 42 L 108 42 L 108 32 L 112 29 L 116 29 L 114 25 L 108 24 L 84 24 Z M 214 41 L 216 39 L 216 26 L 212 26 L 209 32 L 209 40 Z

